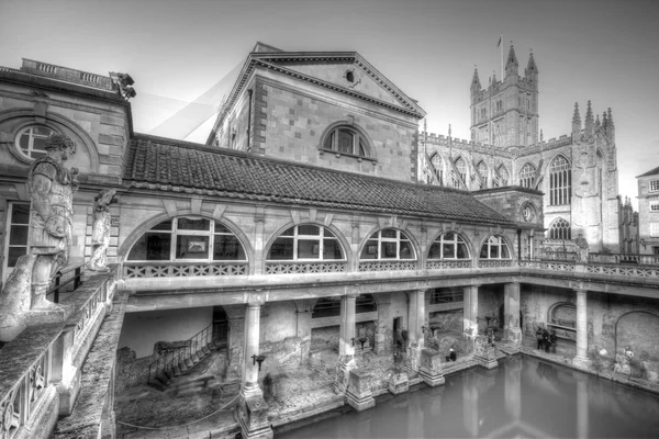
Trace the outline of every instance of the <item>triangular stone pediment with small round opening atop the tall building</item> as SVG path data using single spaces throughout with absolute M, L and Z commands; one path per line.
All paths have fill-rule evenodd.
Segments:
M 359 54 L 283 52 L 253 55 L 304 78 L 316 79 L 405 111 L 425 114 L 414 100 L 405 95 Z

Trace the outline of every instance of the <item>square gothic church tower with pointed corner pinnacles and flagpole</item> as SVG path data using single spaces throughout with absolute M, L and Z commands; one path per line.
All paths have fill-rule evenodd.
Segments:
M 511 45 L 502 80 L 493 75 L 481 89 L 478 70 L 471 80 L 471 140 L 498 148 L 525 147 L 538 142 L 538 68 L 533 53 L 524 69 Z

